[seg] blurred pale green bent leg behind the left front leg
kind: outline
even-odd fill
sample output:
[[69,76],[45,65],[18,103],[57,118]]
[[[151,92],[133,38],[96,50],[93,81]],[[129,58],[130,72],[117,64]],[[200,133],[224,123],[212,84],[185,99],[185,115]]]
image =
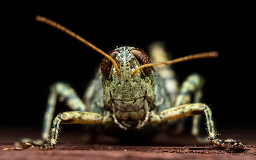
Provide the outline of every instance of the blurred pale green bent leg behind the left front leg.
[[[63,82],[56,82],[50,86],[49,90],[50,95],[48,97],[46,112],[44,116],[42,136],[40,140],[35,140],[36,143],[44,143],[45,139],[49,135],[58,97],[60,97],[59,100],[61,102],[65,101],[71,110],[81,112],[86,111],[86,105],[78,97],[76,91],[73,88],[71,88],[68,84]],[[15,145],[24,144],[28,141],[31,140],[23,138],[16,142]]]

